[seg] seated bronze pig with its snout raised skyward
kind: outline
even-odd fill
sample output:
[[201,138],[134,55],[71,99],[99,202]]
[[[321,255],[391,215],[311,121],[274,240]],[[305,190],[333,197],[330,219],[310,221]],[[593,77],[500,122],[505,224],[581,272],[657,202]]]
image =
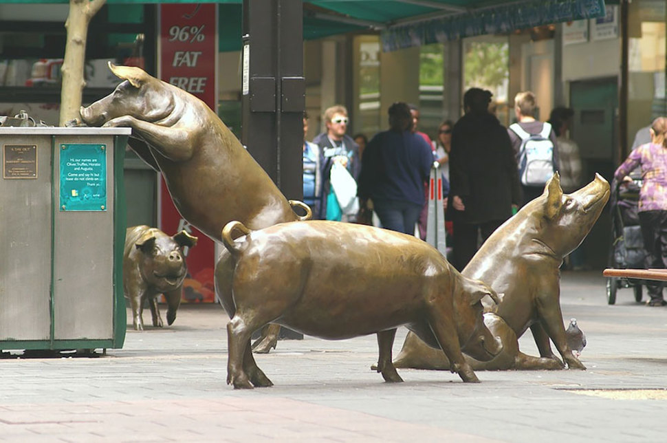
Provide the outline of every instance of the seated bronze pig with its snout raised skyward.
[[[485,362],[468,358],[473,369],[562,369],[549,338],[571,369],[586,369],[567,344],[560,310],[560,265],[589,233],[609,199],[609,183],[595,174],[584,188],[563,194],[558,173],[542,196],[498,228],[462,274],[504,293],[486,306],[484,323],[503,341],[503,352]],[[540,357],[519,351],[517,338],[530,328]],[[474,357],[474,356],[472,356]],[[395,367],[447,369],[446,356],[408,332]]]

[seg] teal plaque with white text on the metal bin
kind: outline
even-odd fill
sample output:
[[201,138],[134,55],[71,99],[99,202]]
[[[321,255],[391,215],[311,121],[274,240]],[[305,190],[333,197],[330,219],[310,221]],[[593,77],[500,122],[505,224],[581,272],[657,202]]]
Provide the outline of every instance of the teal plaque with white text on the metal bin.
[[105,144],[61,144],[61,210],[107,210]]

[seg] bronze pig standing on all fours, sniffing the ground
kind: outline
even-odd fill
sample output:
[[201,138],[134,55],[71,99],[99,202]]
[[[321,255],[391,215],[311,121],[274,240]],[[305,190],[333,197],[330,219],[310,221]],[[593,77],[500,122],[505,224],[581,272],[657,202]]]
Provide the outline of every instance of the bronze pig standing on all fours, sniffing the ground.
[[[235,230],[245,237],[234,241]],[[413,236],[311,221],[256,231],[230,222],[222,237],[236,263],[233,296],[222,300],[231,318],[227,382],[236,389],[272,385],[250,350],[252,332],[269,322],[331,340],[378,334],[378,372],[388,382],[402,381],[391,363],[402,325],[443,349],[464,382],[479,380],[461,351],[479,360],[501,351],[482,321],[481,299],[498,301],[496,293]]]

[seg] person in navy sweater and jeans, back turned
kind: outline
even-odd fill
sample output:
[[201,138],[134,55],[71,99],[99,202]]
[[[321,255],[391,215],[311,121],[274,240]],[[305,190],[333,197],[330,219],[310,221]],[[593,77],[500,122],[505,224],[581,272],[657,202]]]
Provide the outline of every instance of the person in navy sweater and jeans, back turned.
[[361,205],[370,199],[383,228],[410,235],[424,207],[424,182],[433,165],[430,145],[412,127],[408,105],[391,105],[390,129],[369,142],[359,177]]

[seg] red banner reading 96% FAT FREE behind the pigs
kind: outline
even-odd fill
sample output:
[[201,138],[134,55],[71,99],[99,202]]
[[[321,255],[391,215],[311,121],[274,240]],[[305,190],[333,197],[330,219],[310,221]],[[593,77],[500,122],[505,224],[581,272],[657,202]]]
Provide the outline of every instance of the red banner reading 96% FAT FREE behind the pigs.
[[[160,6],[160,78],[197,98],[217,111],[217,5],[173,4]],[[160,229],[173,235],[188,227],[160,180]],[[188,251],[188,277],[183,285],[183,301],[215,300],[213,267],[215,246],[195,228],[197,246]]]

